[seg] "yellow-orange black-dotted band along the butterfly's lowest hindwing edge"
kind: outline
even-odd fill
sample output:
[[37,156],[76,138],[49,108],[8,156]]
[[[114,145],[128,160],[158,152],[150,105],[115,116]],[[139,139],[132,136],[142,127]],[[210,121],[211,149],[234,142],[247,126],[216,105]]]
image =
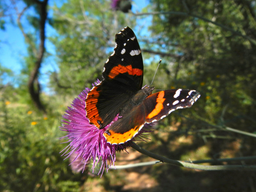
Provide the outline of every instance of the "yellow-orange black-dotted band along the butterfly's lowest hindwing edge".
[[103,133],[104,137],[107,139],[108,143],[111,144],[120,144],[120,143],[125,143],[128,140],[131,140],[133,136],[135,136],[138,132],[140,131],[139,126],[134,127],[128,132],[125,133],[116,133],[113,132],[112,130],[108,130],[110,135],[108,133]]

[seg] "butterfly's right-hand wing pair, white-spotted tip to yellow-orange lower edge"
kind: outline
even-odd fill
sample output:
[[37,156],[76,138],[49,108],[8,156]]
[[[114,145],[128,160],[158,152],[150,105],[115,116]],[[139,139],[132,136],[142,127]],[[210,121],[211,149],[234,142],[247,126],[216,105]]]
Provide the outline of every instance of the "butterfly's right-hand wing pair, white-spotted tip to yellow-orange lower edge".
[[186,89],[150,94],[140,105],[111,124],[104,137],[111,144],[124,143],[138,134],[144,124],[158,121],[176,109],[191,107],[199,97],[199,92]]

